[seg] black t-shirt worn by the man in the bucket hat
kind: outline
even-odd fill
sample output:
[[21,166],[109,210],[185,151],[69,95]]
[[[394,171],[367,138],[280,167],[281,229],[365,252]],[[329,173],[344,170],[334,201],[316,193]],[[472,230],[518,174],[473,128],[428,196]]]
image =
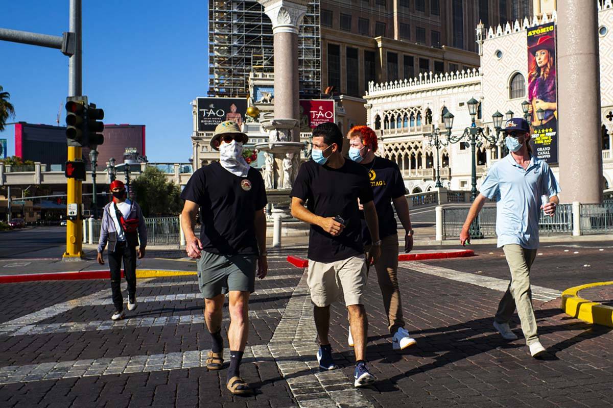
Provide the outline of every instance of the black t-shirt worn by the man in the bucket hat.
[[214,254],[257,254],[254,218],[267,204],[262,175],[250,168],[235,176],[218,161],[192,174],[181,198],[200,206],[204,250]]

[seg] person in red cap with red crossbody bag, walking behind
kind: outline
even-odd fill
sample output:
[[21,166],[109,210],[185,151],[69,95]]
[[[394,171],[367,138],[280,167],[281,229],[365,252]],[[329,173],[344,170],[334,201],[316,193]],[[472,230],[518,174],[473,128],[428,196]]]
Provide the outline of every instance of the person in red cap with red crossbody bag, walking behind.
[[[145,256],[147,247],[147,227],[139,204],[126,199],[126,187],[120,180],[110,185],[113,199],[102,210],[100,240],[98,242],[99,264],[104,265],[102,251],[109,243],[109,267],[111,272],[111,291],[115,311],[112,320],[124,318],[123,297],[121,296],[121,260],[128,283],[128,310],[136,308],[136,257]],[[139,250],[136,247],[139,246]]]

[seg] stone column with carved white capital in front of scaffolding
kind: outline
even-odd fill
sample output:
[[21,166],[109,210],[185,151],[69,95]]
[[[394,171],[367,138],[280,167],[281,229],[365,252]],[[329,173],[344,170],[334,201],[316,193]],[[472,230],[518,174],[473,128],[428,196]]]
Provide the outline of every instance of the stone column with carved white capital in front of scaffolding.
[[[300,120],[298,30],[307,13],[307,0],[258,0],[272,21],[275,53],[275,119]],[[292,141],[300,141],[299,127]]]

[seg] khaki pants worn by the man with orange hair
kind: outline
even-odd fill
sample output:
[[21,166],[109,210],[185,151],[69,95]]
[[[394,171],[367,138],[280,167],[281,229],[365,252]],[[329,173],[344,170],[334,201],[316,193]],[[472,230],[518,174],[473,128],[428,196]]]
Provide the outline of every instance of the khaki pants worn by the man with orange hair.
[[[370,251],[371,245],[365,250]],[[368,262],[367,262],[368,263]],[[370,265],[367,265],[370,268]],[[394,334],[398,327],[405,327],[402,319],[402,301],[398,287],[398,234],[390,235],[381,240],[381,257],[375,264],[379,289],[383,296],[383,306],[387,313],[387,328]]]

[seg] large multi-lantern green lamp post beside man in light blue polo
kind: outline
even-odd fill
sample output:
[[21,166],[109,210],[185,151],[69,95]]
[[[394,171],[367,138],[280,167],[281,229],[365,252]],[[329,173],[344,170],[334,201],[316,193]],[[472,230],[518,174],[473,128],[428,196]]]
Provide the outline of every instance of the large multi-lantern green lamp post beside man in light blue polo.
[[[446,114],[444,114],[443,120],[445,122],[445,127],[447,128],[447,132],[449,133],[449,137],[447,138],[448,143],[458,143],[464,138],[467,138],[467,139],[470,138],[471,154],[473,156],[473,159],[471,162],[472,188],[470,190],[470,196],[471,196],[471,201],[474,201],[474,199],[477,198],[476,146],[478,144],[479,146],[481,146],[481,141],[479,141],[479,139],[481,138],[487,140],[491,144],[496,144],[498,137],[486,135],[484,133],[484,129],[476,125],[475,117],[477,116],[477,108],[478,108],[479,102],[475,98],[471,98],[467,104],[468,104],[468,113],[470,114],[470,119],[471,119],[471,125],[470,127],[466,127],[464,129],[464,132],[462,133],[462,135],[460,136],[451,135],[451,128],[453,127],[453,123],[454,123],[454,116],[453,114],[451,114],[451,112],[447,112]],[[492,116],[493,121],[500,121],[502,114],[498,112],[497,114],[500,115],[500,118]],[[509,116],[509,114],[511,115],[511,117],[513,116],[513,113],[511,111],[508,111],[506,114],[507,116]],[[479,217],[474,218],[474,221],[470,226],[470,236],[473,237],[474,239],[483,238],[483,234],[481,234],[481,230],[479,229]]]

